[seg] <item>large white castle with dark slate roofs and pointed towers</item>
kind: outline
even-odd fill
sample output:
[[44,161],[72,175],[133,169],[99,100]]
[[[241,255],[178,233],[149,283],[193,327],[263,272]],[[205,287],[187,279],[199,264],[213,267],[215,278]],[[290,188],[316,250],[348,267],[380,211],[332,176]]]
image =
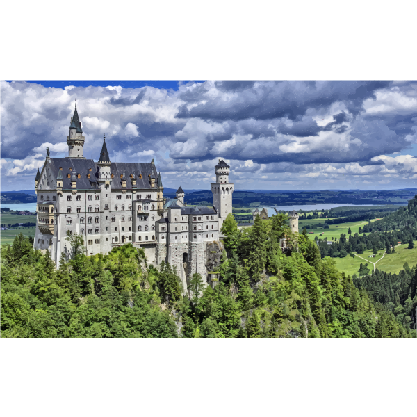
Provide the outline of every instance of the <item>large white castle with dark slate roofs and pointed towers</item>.
[[58,263],[61,252],[71,252],[67,235],[81,234],[88,255],[107,254],[113,247],[132,243],[145,250],[149,263],[177,265],[183,284],[194,272],[206,277],[207,245],[219,240],[222,223],[232,212],[229,165],[223,160],[215,165],[213,208],[188,207],[181,187],[177,198],[163,197],[154,160],[111,162],[104,137],[95,162],[83,156],[84,141],[75,106],[67,136],[69,156],[51,158],[47,149],[44,166],[36,174],[34,248],[48,250]]

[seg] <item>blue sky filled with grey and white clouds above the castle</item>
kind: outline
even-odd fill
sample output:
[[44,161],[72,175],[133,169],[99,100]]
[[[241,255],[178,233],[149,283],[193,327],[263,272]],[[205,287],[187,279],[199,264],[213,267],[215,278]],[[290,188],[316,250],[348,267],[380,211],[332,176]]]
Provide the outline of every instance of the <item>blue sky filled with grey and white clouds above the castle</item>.
[[417,185],[417,81],[0,81],[0,190],[68,156],[75,100],[95,161],[154,158],[163,185],[209,189],[224,158],[245,190]]

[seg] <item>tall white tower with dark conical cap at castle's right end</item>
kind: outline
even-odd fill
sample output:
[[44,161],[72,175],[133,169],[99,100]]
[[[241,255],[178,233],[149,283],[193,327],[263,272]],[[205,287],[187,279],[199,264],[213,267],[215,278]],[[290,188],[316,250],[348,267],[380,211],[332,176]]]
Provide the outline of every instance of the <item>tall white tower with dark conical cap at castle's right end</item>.
[[213,206],[218,212],[219,229],[221,229],[227,215],[232,212],[231,195],[234,190],[234,183],[229,183],[230,167],[222,159],[214,167],[216,182],[211,183],[213,193]]

